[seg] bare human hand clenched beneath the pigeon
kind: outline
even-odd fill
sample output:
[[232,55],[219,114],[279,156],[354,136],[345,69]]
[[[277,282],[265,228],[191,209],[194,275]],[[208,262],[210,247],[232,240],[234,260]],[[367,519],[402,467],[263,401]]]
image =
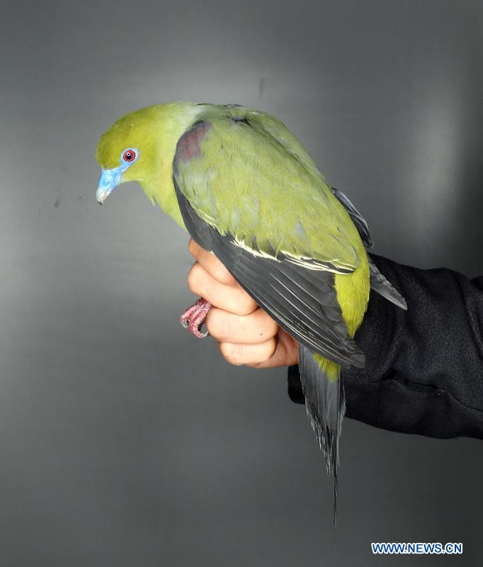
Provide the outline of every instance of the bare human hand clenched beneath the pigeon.
[[225,360],[253,368],[297,364],[297,341],[256,305],[215,254],[193,239],[188,249],[196,260],[188,288],[211,303],[205,325]]

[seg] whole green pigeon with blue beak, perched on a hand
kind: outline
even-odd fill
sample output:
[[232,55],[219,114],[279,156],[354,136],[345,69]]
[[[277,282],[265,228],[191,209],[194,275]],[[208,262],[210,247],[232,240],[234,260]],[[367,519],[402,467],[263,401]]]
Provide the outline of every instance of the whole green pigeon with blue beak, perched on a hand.
[[[353,337],[370,288],[406,309],[365,251],[373,240],[300,141],[267,113],[239,105],[163,103],[103,134],[96,198],[138,181],[153,203],[226,266],[299,343],[307,415],[334,475],[345,411],[341,369],[365,364]],[[196,336],[210,304],[182,317]]]

